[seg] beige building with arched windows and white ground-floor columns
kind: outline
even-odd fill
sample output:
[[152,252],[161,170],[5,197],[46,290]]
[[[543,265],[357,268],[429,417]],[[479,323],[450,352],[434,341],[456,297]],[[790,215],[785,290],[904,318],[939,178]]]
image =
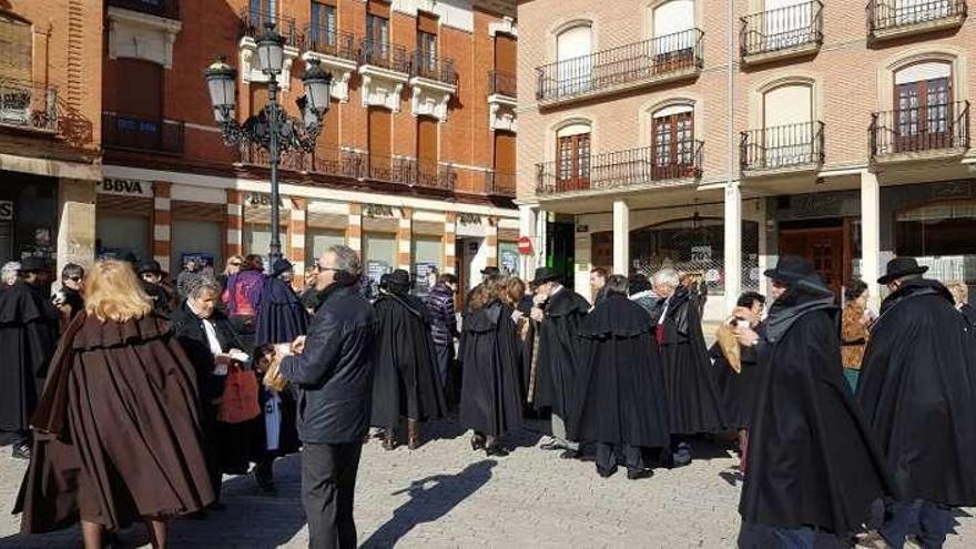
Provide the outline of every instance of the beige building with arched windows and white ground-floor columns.
[[518,18],[526,271],[583,293],[596,266],[701,273],[725,297],[712,317],[786,253],[837,291],[895,255],[976,283],[966,1],[531,0]]

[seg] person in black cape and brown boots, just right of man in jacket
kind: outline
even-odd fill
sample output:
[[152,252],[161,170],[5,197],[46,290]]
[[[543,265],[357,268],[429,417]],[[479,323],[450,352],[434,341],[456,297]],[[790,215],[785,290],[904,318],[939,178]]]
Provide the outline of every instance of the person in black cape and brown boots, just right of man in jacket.
[[396,270],[384,277],[373,304],[378,323],[373,380],[372,425],[383,429],[383,446],[396,445],[396,427],[407,417],[407,445],[420,446],[420,421],[444,417],[447,405],[437,375],[430,316],[424,302],[409,295],[410,274]]

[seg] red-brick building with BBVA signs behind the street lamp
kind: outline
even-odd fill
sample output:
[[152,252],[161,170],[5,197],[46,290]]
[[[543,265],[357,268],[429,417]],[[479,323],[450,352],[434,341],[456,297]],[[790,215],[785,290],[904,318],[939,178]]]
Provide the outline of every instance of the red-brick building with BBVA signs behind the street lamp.
[[514,1],[106,0],[98,253],[186,255],[223,267],[266,254],[267,157],[227,148],[203,70],[238,72],[237,118],[267,101],[255,37],[286,39],[282,104],[297,114],[305,60],[333,75],[312,153],[282,161],[283,251],[297,272],[334,243],[367,271],[480,277],[518,268]]

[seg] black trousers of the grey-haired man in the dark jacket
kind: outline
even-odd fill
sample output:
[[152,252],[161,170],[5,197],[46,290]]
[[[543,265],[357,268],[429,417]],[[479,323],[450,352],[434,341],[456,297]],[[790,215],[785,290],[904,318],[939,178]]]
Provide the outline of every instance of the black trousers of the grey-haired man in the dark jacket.
[[305,444],[302,502],[308,520],[309,549],[355,549],[353,495],[362,451],[362,441]]

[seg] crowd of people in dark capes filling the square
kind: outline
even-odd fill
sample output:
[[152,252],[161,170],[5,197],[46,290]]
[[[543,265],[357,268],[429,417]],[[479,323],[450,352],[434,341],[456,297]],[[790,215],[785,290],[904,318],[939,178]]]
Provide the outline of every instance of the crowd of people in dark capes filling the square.
[[941,547],[976,505],[976,314],[925,271],[889,262],[875,314],[865,283],[836,296],[783,256],[710,347],[704,284],[671,268],[593,270],[588,299],[547,267],[487,267],[462,301],[454,275],[418,297],[397,270],[367,298],[334,246],[302,292],[291,263],[251,255],[216,277],[187,262],[172,285],[155,262],[68,265],[51,298],[43,262],[8,264],[0,428],[30,459],[22,529],[80,520],[100,547],[141,519],[163,547],[170,518],[223,509],[224,474],[274,492],[301,448],[309,546],[355,547],[363,445],[413,450],[456,417],[497,458],[548,419],[538,448],[630,480],[731,433],[740,547]]

